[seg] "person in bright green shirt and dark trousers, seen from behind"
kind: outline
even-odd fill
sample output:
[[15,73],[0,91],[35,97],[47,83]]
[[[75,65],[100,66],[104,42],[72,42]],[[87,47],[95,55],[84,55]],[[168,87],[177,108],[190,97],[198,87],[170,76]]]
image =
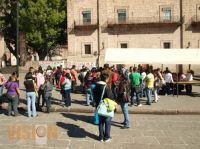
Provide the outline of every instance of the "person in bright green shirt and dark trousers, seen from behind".
[[133,97],[134,94],[136,94],[137,106],[141,107],[142,104],[140,104],[140,98],[139,98],[139,94],[141,92],[141,87],[140,87],[141,75],[139,72],[137,72],[137,67],[133,68],[133,72],[129,75],[129,79],[131,84],[131,105],[134,104]]

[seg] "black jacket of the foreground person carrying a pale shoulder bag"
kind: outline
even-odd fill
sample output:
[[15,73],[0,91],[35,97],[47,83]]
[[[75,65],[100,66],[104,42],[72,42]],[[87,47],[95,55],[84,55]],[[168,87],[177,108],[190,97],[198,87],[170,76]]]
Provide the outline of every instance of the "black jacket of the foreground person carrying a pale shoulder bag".
[[[97,82],[96,87],[94,88],[94,100],[96,102],[96,108],[98,107],[99,102],[101,100],[101,95],[102,95],[105,85],[106,85],[106,82],[99,81],[99,82]],[[110,87],[108,85],[106,85],[106,88],[104,91],[103,99],[104,98],[113,99],[112,90],[110,89]]]

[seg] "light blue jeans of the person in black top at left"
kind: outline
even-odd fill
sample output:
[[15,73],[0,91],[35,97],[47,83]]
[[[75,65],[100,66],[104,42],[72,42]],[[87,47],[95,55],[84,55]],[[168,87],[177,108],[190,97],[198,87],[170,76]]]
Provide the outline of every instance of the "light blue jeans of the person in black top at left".
[[[28,117],[36,117],[36,108],[35,108],[35,99],[36,95],[35,92],[27,92],[26,93],[26,99],[27,99],[27,106],[28,106]],[[31,111],[32,108],[32,111]]]

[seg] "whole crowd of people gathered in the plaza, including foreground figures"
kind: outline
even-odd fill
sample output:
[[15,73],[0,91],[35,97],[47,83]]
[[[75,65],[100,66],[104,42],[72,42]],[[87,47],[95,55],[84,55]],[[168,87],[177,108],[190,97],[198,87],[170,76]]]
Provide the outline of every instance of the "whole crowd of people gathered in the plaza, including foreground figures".
[[[71,93],[77,93],[77,82],[80,81],[80,90],[85,96],[85,105],[94,106],[96,109],[100,104],[101,96],[103,99],[109,98],[117,102],[124,114],[122,128],[128,129],[129,112],[128,107],[141,107],[141,99],[146,98],[146,105],[158,102],[160,94],[172,94],[174,81],[192,81],[193,71],[188,70],[186,74],[180,72],[174,75],[168,68],[161,71],[160,68],[153,69],[153,66],[142,67],[131,66],[129,69],[121,65],[119,69],[115,66],[104,64],[104,67],[92,68],[89,70],[85,66],[78,72],[76,66],[63,68],[62,66],[46,70],[39,67],[37,70],[29,68],[29,72],[24,77],[24,87],[26,90],[27,116],[36,117],[37,109],[41,109],[46,104],[46,112],[51,111],[51,99],[53,86],[60,89],[62,102],[65,107],[71,106]],[[0,73],[0,97],[3,95],[3,87],[7,89],[8,116],[13,114],[18,116],[18,103],[20,97],[19,81],[16,73],[6,80]],[[181,92],[186,89],[187,94],[191,94],[192,86],[179,86]],[[42,97],[42,98],[41,98]],[[42,100],[40,100],[42,99]],[[112,117],[98,116],[99,140],[110,141],[110,127]],[[105,128],[104,128],[105,127]],[[105,132],[104,132],[105,129]]]

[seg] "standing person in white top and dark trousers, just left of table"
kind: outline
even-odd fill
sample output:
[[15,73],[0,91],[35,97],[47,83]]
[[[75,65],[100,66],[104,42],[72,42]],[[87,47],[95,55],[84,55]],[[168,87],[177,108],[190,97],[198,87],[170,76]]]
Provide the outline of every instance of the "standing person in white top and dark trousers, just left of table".
[[170,91],[171,84],[174,83],[172,73],[169,70],[165,71],[164,80],[165,80],[164,92],[165,92],[165,96],[167,96],[171,94],[171,91]]

